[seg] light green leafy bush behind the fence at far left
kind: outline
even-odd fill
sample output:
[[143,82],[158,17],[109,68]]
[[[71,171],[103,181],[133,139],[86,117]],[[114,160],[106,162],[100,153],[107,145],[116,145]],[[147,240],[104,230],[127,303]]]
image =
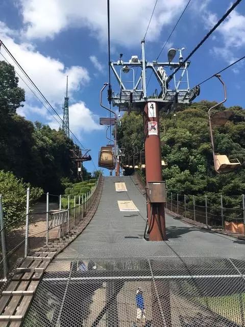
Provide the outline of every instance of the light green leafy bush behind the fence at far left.
[[[0,194],[3,194],[4,221],[7,228],[20,226],[26,220],[27,188],[30,184],[12,173],[0,171]],[[30,204],[42,194],[40,188],[30,187]]]

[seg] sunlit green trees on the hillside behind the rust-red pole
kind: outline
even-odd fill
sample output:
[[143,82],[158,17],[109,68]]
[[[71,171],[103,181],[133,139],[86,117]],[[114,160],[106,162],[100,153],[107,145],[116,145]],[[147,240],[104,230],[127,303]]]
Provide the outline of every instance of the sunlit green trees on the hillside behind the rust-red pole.
[[[230,159],[238,158],[242,165],[234,172],[217,175],[208,130],[208,109],[213,104],[201,101],[177,107],[176,116],[160,112],[162,158],[167,161],[162,176],[169,193],[197,195],[201,202],[201,195],[206,194],[213,204],[220,201],[217,194],[222,194],[225,204],[234,206],[241,199],[230,196],[245,193],[245,111],[238,106],[218,109],[232,110],[234,114],[225,126],[214,128],[215,151]],[[142,130],[141,114],[122,117],[118,144],[125,148],[126,158],[133,148],[143,148]]]

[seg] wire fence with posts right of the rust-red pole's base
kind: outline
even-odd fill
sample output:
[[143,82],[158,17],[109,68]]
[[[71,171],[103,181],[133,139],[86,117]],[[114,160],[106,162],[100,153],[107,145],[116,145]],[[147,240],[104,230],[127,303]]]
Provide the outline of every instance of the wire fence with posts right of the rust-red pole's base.
[[[245,205],[244,195],[236,196],[236,206],[229,205],[229,197],[213,199],[207,196],[194,196],[167,193],[166,207],[177,215],[203,223],[209,227],[225,228],[245,234]],[[226,203],[228,206],[226,207]]]

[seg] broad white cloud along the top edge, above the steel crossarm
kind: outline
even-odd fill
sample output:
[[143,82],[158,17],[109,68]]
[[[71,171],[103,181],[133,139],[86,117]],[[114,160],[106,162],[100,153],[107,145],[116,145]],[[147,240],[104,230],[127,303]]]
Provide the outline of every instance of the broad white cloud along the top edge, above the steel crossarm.
[[[101,43],[107,41],[107,6],[102,0],[19,0],[28,38],[53,38],[71,27],[88,28]],[[143,38],[155,0],[113,0],[110,4],[111,41],[135,45]],[[161,35],[162,27],[173,24],[185,0],[158,2],[146,39]]]

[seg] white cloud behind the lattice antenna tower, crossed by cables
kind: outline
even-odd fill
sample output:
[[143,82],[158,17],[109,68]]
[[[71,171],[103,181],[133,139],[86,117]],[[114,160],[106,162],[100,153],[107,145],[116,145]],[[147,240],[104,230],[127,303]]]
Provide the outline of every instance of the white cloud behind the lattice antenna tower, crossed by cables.
[[[81,86],[86,85],[90,80],[87,69],[82,66],[65,67],[58,59],[44,56],[36,51],[30,43],[16,43],[11,37],[15,32],[8,29],[3,22],[0,22],[0,27],[2,27],[2,30],[0,30],[0,39],[3,40],[10,52],[14,54],[17,61],[39,87],[47,100],[53,106],[57,105],[58,109],[56,108],[56,110],[59,112],[61,118],[63,118],[61,103],[65,95],[66,75],[69,76],[69,98],[72,100],[76,98],[76,91]],[[15,66],[16,71],[20,73],[19,68],[13,63],[3,48],[1,52]],[[0,56],[0,60],[2,59]],[[20,76],[24,79],[22,73],[20,73]],[[24,80],[27,82],[26,79]],[[27,83],[29,84],[29,82]],[[24,102],[24,107],[19,108],[17,112],[28,119],[31,119],[33,116],[39,116],[43,123],[50,125],[52,128],[59,128],[60,123],[57,123],[52,114],[38,102],[21,79],[19,79],[19,86],[23,87],[26,91],[26,102]],[[52,112],[52,109],[50,111]],[[70,128],[78,135],[81,135],[83,131],[90,132],[101,128],[95,122],[97,120],[96,116],[86,107],[84,102],[71,104],[69,107],[69,117]]]

